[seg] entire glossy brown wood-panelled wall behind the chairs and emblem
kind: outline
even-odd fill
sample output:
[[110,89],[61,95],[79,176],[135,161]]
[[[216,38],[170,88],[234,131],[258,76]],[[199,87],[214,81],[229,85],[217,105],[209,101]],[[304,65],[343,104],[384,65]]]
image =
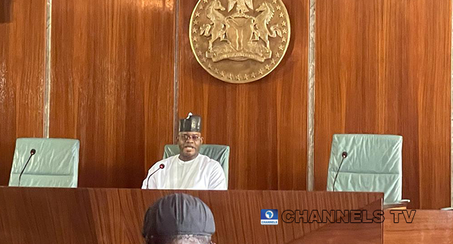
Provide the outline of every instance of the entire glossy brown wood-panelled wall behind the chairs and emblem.
[[[284,0],[289,50],[250,84],[195,61],[196,3],[52,1],[49,136],[80,139],[80,186],[139,188],[173,142],[174,116],[192,112],[206,143],[231,146],[231,189],[307,188],[309,0]],[[404,197],[450,205],[450,3],[316,0],[315,190],[334,133],[398,134]],[[43,135],[45,4],[0,4],[0,185],[16,137]]]

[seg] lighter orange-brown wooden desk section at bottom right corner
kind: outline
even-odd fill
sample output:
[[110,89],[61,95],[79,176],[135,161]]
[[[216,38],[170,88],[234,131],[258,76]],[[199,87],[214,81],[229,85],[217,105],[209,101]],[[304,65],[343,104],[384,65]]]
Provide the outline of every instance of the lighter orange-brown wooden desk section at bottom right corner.
[[453,211],[417,210],[412,223],[394,223],[388,210],[384,217],[384,244],[453,243]]

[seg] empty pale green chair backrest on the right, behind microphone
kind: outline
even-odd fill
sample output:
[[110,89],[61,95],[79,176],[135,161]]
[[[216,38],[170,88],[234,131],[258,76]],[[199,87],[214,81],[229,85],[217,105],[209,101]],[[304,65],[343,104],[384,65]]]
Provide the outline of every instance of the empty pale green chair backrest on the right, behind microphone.
[[401,200],[402,146],[399,135],[333,135],[327,190],[333,190],[341,154],[348,153],[335,191],[384,192],[384,203]]

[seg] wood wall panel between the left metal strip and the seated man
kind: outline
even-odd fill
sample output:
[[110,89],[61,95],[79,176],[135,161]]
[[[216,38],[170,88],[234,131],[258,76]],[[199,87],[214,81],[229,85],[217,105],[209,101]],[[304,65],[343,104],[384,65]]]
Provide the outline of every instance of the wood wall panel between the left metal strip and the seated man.
[[80,139],[80,186],[139,188],[172,142],[174,17],[173,1],[53,1],[50,136]]

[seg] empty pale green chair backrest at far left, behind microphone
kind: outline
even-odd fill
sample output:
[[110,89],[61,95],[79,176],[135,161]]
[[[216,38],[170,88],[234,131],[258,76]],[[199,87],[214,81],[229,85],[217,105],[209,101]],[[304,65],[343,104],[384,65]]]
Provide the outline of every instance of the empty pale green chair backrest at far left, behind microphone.
[[20,186],[77,188],[79,147],[77,139],[18,138],[8,185],[18,185],[20,172],[34,148],[36,154],[22,174]]

